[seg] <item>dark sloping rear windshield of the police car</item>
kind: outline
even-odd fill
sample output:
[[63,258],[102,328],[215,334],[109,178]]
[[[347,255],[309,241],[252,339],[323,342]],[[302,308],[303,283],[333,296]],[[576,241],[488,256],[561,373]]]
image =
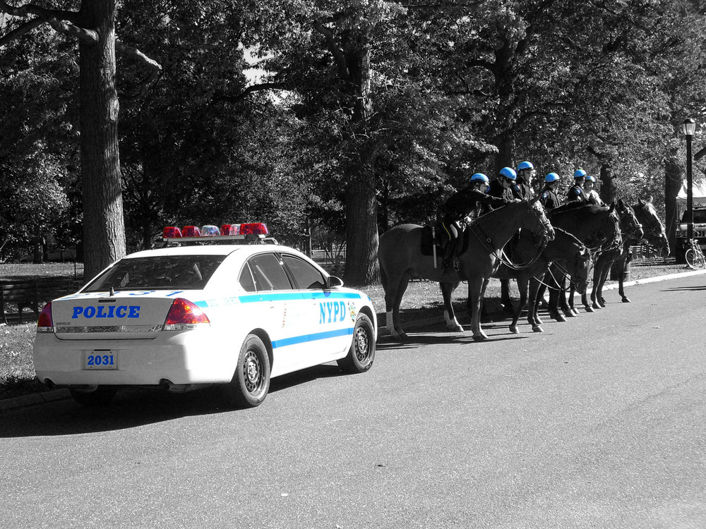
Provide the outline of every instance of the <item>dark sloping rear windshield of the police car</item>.
[[97,277],[84,292],[114,290],[201,290],[225,255],[169,255],[124,259]]

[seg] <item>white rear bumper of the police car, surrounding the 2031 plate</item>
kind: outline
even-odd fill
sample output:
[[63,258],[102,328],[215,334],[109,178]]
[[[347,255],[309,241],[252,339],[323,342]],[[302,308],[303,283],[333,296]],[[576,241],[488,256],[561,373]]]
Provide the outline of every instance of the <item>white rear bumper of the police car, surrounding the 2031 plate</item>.
[[[38,333],[34,363],[41,382],[56,385],[219,384],[230,382],[238,350],[211,329],[162,332],[150,340],[60,340]],[[115,369],[87,369],[96,350],[114,354]]]

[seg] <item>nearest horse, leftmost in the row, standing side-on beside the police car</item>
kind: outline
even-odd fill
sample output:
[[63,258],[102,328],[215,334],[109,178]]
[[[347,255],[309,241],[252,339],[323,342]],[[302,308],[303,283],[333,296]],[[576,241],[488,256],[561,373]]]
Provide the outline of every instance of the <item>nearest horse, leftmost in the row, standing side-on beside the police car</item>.
[[[510,202],[493,209],[473,221],[462,233],[457,244],[459,270],[458,281],[466,280],[476,309],[471,319],[474,340],[485,340],[488,336],[481,329],[481,299],[491,274],[500,264],[499,252],[517,230],[528,229],[554,238],[554,229],[544,214],[544,208],[534,200]],[[431,255],[421,251],[422,226],[402,224],[385,231],[380,236],[378,260],[385,290],[385,327],[393,339],[405,339],[407,334],[400,327],[400,303],[407,290],[409,279],[441,280],[441,255],[436,262]],[[443,283],[444,316],[446,328],[463,331],[458,324],[451,305],[451,293],[458,281]]]

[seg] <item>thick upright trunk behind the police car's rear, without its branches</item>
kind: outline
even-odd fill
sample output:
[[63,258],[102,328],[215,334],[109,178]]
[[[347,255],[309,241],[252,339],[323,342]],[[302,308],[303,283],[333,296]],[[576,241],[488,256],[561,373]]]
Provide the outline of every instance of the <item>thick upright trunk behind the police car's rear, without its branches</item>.
[[115,87],[115,0],[83,1],[85,28],[97,44],[80,40],[80,153],[83,190],[84,277],[125,255]]

